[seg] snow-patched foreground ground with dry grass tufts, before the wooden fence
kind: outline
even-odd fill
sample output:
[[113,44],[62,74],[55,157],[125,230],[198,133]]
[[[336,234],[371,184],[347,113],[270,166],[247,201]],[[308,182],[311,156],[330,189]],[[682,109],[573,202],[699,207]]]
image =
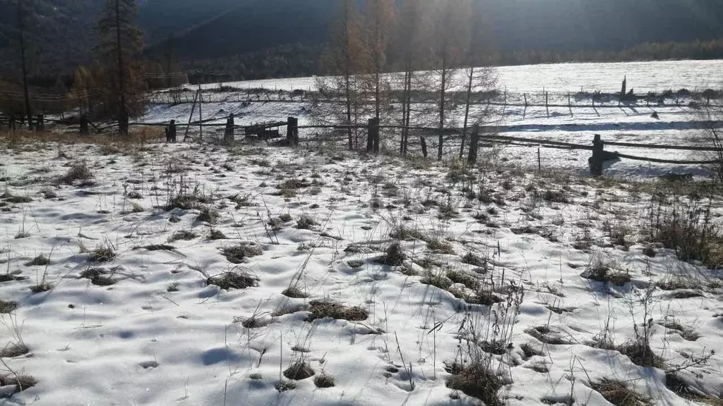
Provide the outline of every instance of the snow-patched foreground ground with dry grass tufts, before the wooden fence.
[[[455,360],[497,371],[513,406],[720,405],[722,275],[650,241],[649,185],[334,150],[2,148],[3,405],[479,404],[448,387]],[[654,366],[621,353],[641,334]],[[314,375],[282,376],[299,362]],[[13,394],[15,373],[35,386]]]

